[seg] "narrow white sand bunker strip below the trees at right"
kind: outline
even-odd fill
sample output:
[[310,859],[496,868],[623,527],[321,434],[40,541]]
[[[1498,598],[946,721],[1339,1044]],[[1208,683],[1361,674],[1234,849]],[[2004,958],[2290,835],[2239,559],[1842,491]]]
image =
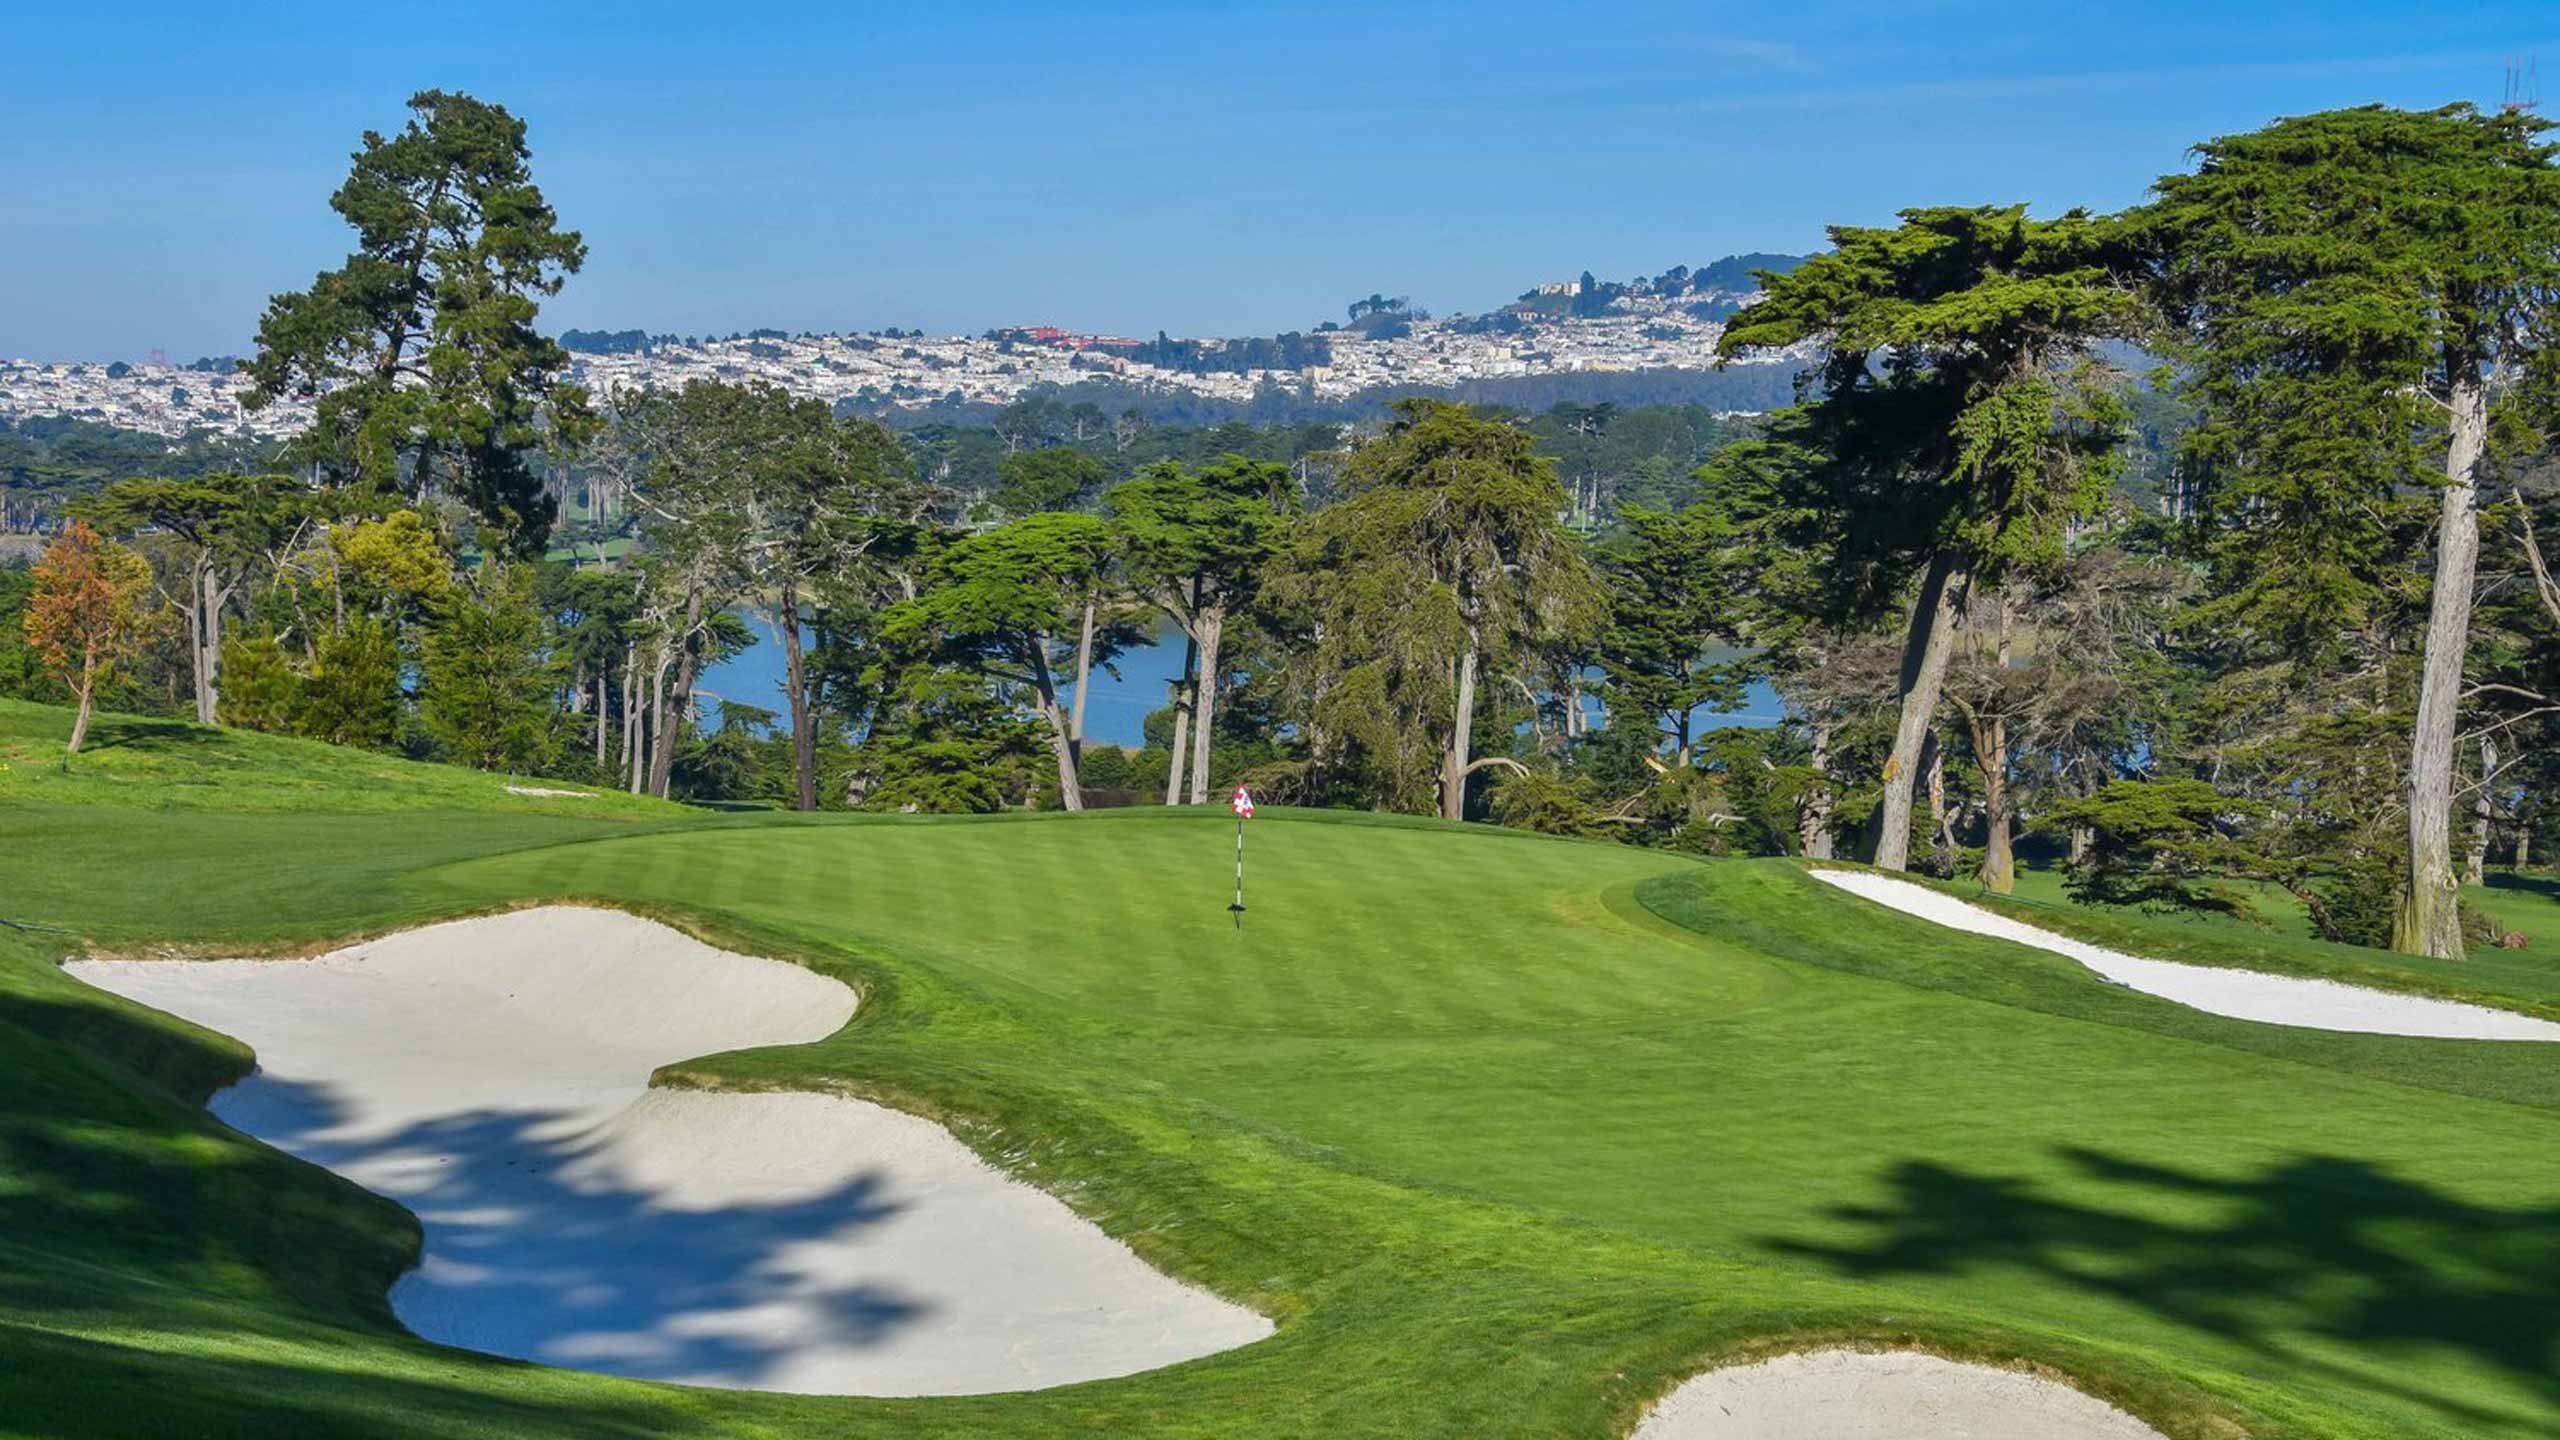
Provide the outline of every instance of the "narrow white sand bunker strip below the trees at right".
[[1935,920],[1953,930],[2015,940],[2038,951],[2068,956],[2115,984],[2158,994],[2179,1004],[2232,1020],[2260,1020],[2266,1025],[2299,1025],[2304,1030],[2355,1030],[2365,1035],[2424,1035],[2435,1040],[2560,1040],[2560,1025],[2491,1010],[2486,1004],[2460,1004],[2452,999],[2424,999],[2365,989],[2327,979],[2271,976],[2260,971],[2225,971],[2214,966],[2179,966],[2171,961],[2145,961],[2122,951],[2107,951],[2038,930],[2007,915],[1994,915],[1979,904],[1966,904],[1953,894],[1925,884],[1892,879],[1876,871],[1812,871],[1812,879],[1836,884],[1851,894],[1864,894],[1876,904],[1889,904],[1905,915]]

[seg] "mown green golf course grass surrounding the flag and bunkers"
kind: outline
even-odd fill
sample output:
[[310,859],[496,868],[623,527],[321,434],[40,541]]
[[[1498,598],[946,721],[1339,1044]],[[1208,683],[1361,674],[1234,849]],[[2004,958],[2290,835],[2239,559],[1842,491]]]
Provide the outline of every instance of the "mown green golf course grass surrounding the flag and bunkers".
[[932,1402],[438,1350],[381,1307],[397,1209],[192,1107],[236,1045],[0,933],[0,1432],[1603,1437],[1708,1358],[1830,1338],[2030,1358],[2181,1440],[2560,1430],[2550,1048],[2217,1020],[1779,861],[1267,810],[1239,933],[1224,815],[612,820],[471,784],[0,799],[0,843],[13,897],[128,948],[586,897],[842,974],[840,1035],[663,1081],[945,1117],[1280,1332]]

